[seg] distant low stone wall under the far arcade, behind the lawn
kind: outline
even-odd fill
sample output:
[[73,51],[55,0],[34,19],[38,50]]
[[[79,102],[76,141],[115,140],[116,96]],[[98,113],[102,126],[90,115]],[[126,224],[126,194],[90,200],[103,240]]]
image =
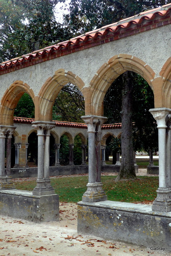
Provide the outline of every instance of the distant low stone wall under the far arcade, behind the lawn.
[[[72,175],[88,173],[88,165],[77,165],[77,166],[51,166],[50,176],[59,175]],[[113,164],[106,164],[102,166],[103,172],[119,172],[120,166]],[[135,173],[138,173],[138,166],[135,166]],[[29,168],[12,168],[11,169],[12,178],[27,178],[27,177],[37,177],[37,167]]]

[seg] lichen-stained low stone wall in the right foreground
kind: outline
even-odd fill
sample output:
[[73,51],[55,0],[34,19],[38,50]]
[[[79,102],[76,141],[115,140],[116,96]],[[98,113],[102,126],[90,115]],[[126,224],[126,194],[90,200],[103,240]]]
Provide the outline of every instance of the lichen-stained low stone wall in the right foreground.
[[101,201],[78,202],[79,233],[136,245],[165,247],[171,252],[171,212],[154,212],[143,204]]

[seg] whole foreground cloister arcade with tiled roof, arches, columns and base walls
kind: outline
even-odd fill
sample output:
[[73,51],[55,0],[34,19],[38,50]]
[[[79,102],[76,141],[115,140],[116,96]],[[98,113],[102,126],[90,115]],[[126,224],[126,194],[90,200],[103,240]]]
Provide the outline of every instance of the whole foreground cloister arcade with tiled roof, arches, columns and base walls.
[[[89,139],[89,182],[78,202],[78,232],[170,250],[170,11],[171,4],[163,5],[0,64],[1,214],[36,222],[59,219],[59,199],[49,178],[49,138],[55,127],[53,103],[61,88],[72,83],[85,99],[82,119]],[[141,75],[154,93],[155,108],[149,111],[159,132],[159,188],[152,206],[108,201],[102,188],[101,133],[107,120],[103,116],[103,99],[111,83],[125,71]],[[38,136],[38,176],[32,192],[15,190],[10,173],[13,113],[24,93],[35,104],[32,127]],[[22,139],[25,141],[25,136]]]

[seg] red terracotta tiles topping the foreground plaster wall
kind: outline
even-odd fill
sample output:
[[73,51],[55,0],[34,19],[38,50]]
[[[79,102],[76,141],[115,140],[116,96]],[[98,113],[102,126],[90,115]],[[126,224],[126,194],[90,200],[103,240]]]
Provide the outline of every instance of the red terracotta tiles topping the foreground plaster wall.
[[2,62],[0,64],[0,69],[4,69],[5,67],[9,67],[9,66],[12,66],[12,65],[15,65],[18,63],[22,63],[26,60],[30,60],[30,59],[36,58],[38,56],[43,57],[43,54],[48,54],[48,53],[50,54],[52,51],[54,51],[54,50],[57,51],[57,50],[60,50],[61,48],[66,49],[66,51],[67,51],[67,48],[70,45],[78,45],[80,42],[86,42],[90,38],[96,39],[97,37],[105,36],[110,32],[115,33],[118,31],[118,29],[129,28],[132,24],[141,24],[146,20],[153,20],[153,19],[155,19],[155,17],[157,15],[165,16],[169,13],[170,10],[171,10],[171,3],[163,5],[162,7],[159,7],[156,9],[142,12],[138,15],[129,17],[129,18],[121,20],[119,22],[103,26],[99,29],[95,29],[94,31],[87,32],[84,35],[80,35],[80,36],[71,38],[70,40],[66,40],[64,42],[59,42],[56,45],[48,46],[48,47],[45,47],[38,51],[34,51],[32,53],[25,54],[21,57]]

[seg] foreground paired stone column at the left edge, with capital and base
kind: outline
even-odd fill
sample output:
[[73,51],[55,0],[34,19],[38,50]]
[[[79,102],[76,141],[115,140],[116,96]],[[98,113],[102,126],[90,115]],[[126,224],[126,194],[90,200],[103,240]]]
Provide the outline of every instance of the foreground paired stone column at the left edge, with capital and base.
[[[14,189],[11,181],[11,138],[16,127],[0,125],[0,190]],[[5,176],[5,138],[6,143],[6,172]]]

